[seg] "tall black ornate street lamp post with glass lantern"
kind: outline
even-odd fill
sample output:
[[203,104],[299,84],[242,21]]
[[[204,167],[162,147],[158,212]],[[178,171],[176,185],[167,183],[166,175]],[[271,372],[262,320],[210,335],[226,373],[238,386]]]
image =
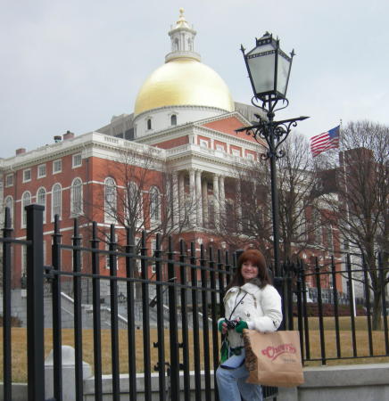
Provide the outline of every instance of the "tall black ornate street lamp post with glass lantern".
[[[284,156],[284,151],[279,148],[286,140],[292,127],[297,126],[297,121],[308,119],[298,117],[275,121],[275,111],[285,109],[288,105],[286,90],[289,82],[290,70],[294,58],[294,51],[287,55],[279,47],[279,39],[274,39],[269,32],[263,37],[256,38],[255,47],[245,53],[244,46],[241,51],[252,84],[252,104],[266,112],[268,119],[262,119],[255,114],[259,123],[250,127],[242,127],[236,132],[245,132],[252,135],[258,142],[265,140],[268,144],[266,153],[261,154],[262,160],[269,160],[271,183],[271,208],[273,218],[273,243],[274,243],[274,273],[277,290],[282,289],[282,272],[279,261],[279,228],[278,228],[278,194],[277,194],[277,165],[276,161]],[[279,105],[279,103],[281,105]],[[278,107],[277,107],[278,106]]]

